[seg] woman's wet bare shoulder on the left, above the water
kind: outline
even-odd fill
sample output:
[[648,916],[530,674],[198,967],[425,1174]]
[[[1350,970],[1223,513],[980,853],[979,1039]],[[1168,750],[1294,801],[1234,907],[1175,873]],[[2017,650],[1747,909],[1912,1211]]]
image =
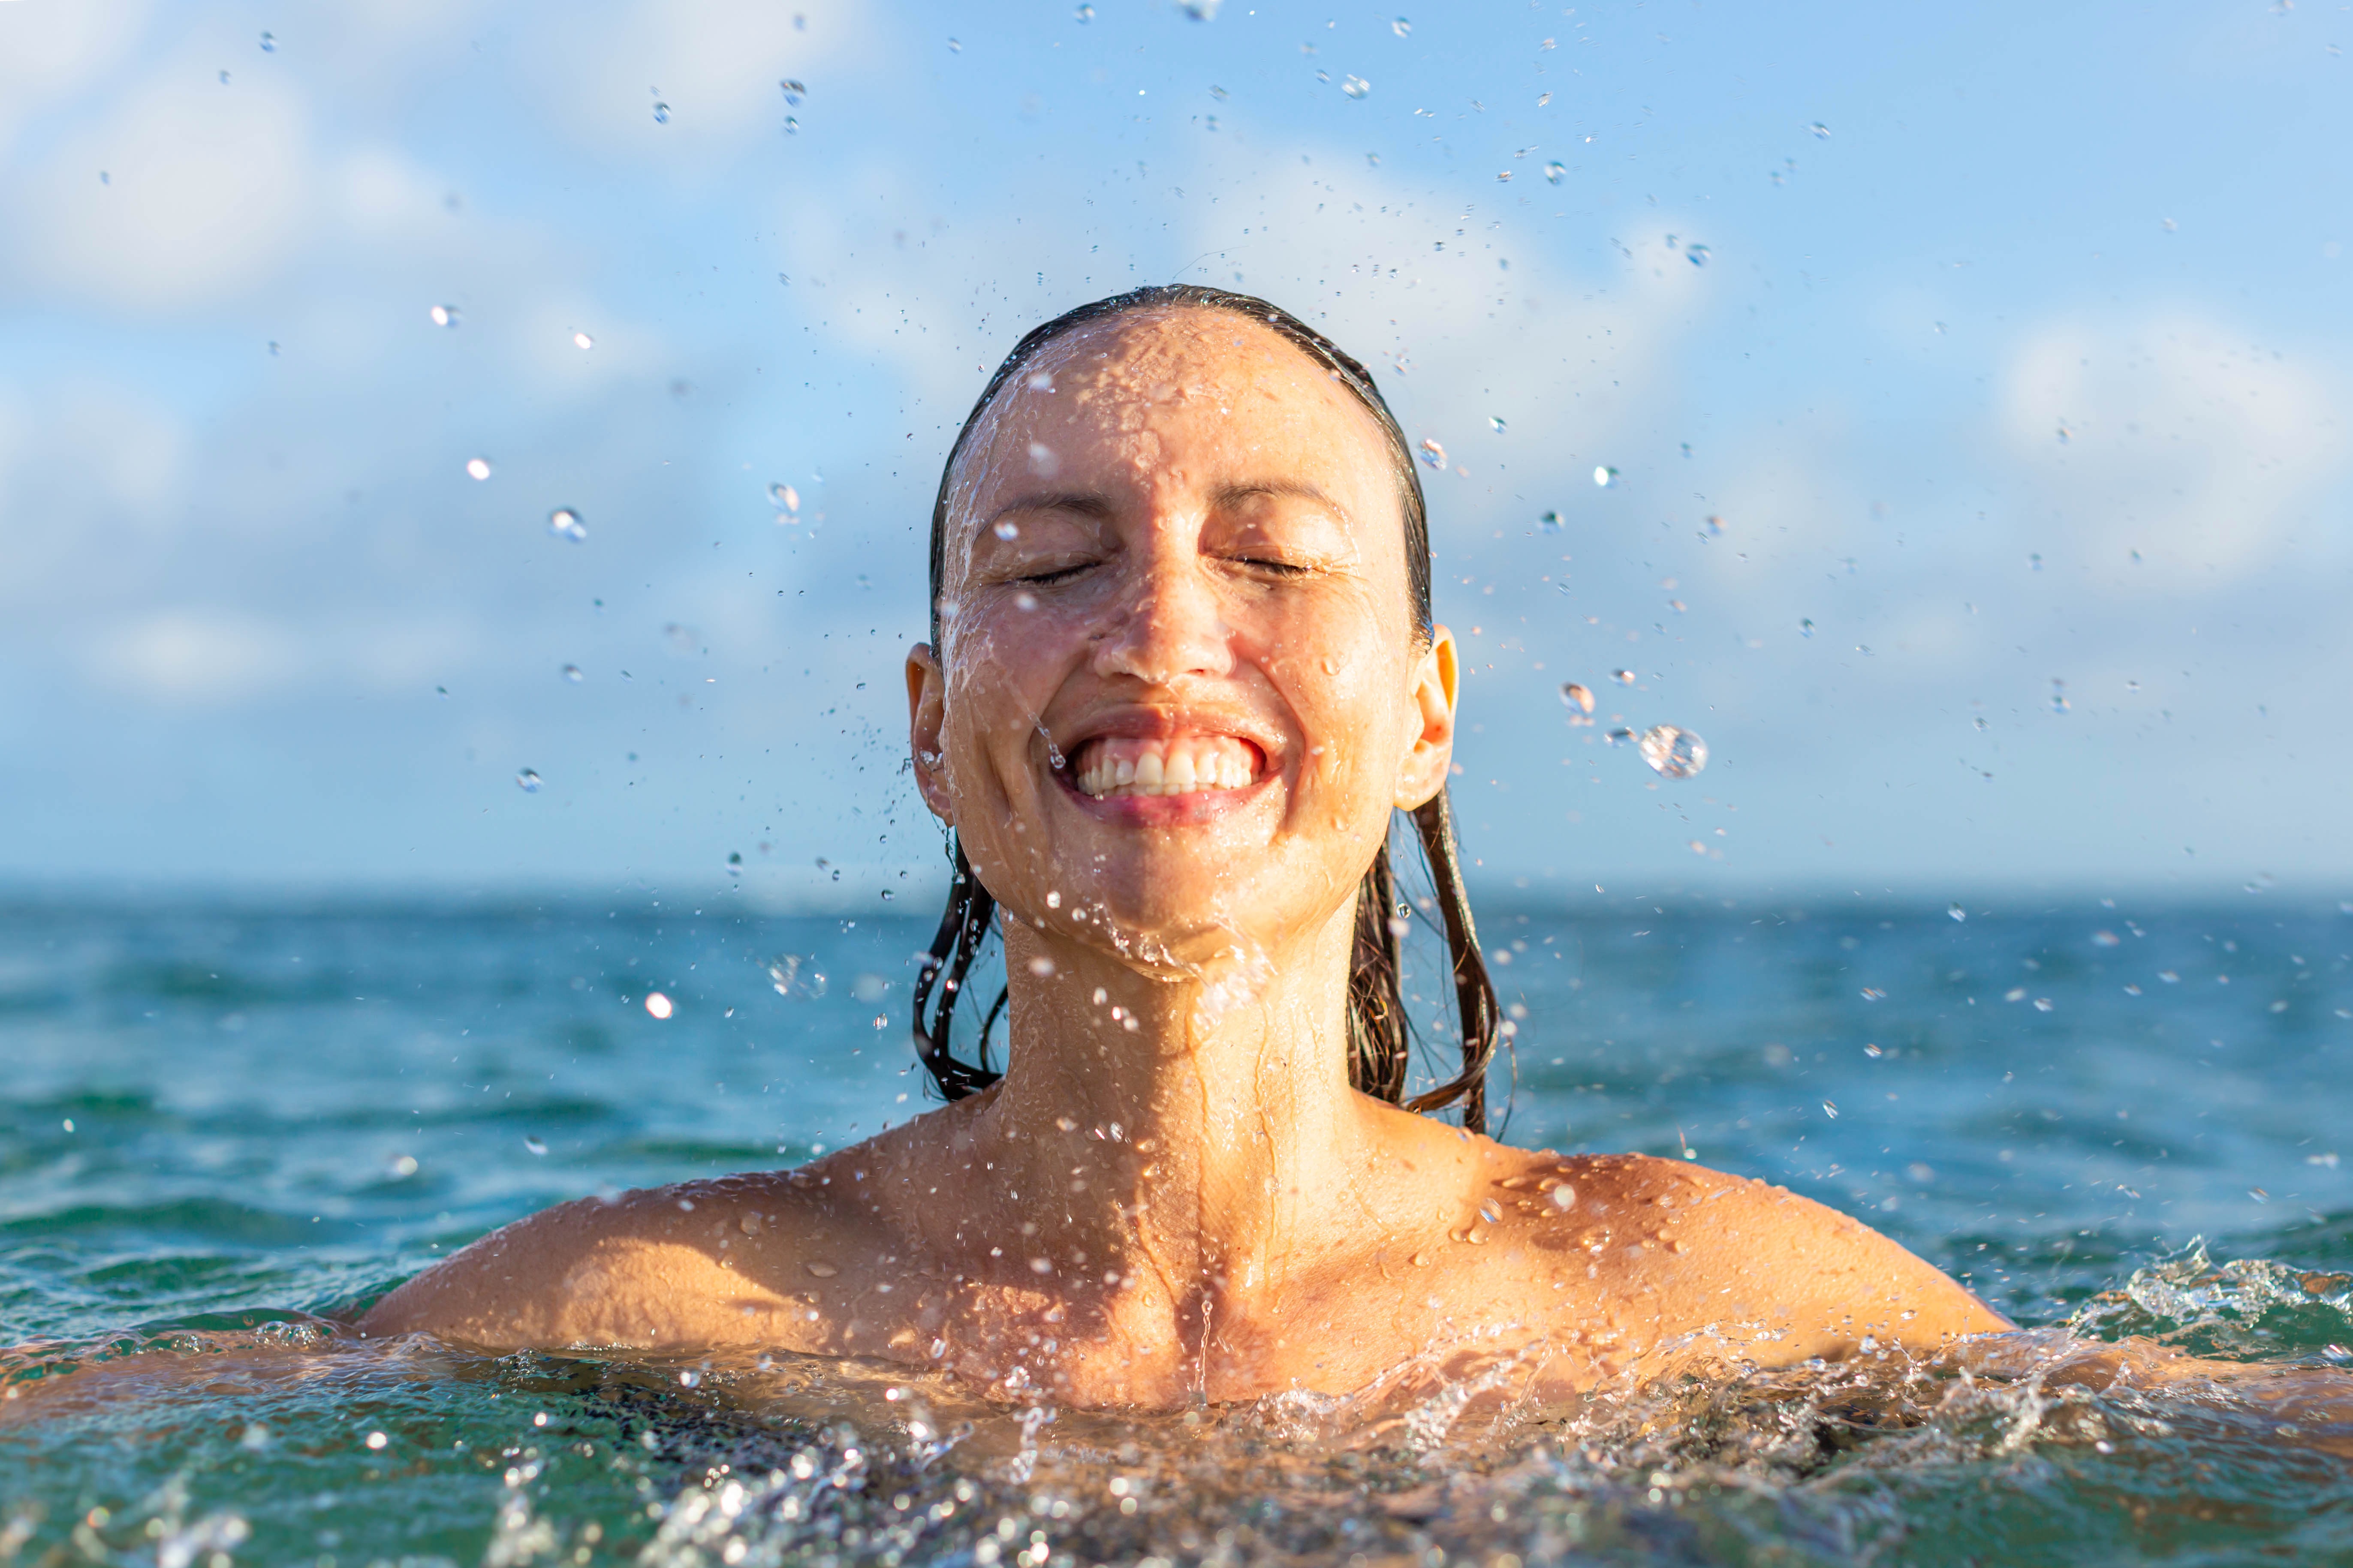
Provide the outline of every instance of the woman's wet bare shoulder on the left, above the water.
[[824,1171],[758,1171],[544,1208],[376,1302],[360,1333],[494,1349],[765,1342],[809,1321],[802,1258],[859,1239]]

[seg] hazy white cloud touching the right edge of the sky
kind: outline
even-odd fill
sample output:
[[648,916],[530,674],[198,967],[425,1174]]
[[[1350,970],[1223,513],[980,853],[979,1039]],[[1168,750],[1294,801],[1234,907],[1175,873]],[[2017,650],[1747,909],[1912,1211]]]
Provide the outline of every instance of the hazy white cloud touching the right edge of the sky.
[[2254,574],[2344,468],[2327,378],[2193,315],[2033,331],[2000,421],[2031,522],[2097,564],[2139,550],[2151,585]]

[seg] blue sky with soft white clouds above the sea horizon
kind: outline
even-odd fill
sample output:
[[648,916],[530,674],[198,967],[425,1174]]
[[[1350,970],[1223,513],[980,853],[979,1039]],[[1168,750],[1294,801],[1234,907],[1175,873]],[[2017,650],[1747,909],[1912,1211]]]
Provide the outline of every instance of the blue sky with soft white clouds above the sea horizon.
[[1489,886],[2353,896],[2346,47],[2344,5],[0,0],[0,879],[741,853],[922,905],[955,421],[1026,327],[1191,277],[1447,454]]

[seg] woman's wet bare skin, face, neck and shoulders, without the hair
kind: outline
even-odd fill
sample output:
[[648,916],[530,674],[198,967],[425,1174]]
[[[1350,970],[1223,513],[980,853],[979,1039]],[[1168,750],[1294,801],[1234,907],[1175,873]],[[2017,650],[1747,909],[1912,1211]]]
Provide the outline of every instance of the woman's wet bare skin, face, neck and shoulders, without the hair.
[[[760,1345],[1174,1408],[1534,1349],[1544,1389],[2007,1328],[1692,1164],[1355,1093],[1355,889],[1454,741],[1377,423],[1231,313],[1054,343],[951,496],[915,778],[1005,912],[1009,1072],[791,1173],[511,1225],[376,1305],[482,1347]],[[1198,783],[1188,783],[1198,780]]]

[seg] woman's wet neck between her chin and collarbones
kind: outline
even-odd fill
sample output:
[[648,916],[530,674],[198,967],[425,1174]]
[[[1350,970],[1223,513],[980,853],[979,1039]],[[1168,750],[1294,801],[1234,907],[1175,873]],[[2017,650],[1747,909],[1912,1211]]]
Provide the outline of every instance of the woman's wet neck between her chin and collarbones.
[[1038,1227],[1024,1246],[1179,1309],[1313,1253],[1365,1157],[1351,938],[1344,910],[1294,950],[1167,978],[1007,922],[1012,1060],[974,1138]]

